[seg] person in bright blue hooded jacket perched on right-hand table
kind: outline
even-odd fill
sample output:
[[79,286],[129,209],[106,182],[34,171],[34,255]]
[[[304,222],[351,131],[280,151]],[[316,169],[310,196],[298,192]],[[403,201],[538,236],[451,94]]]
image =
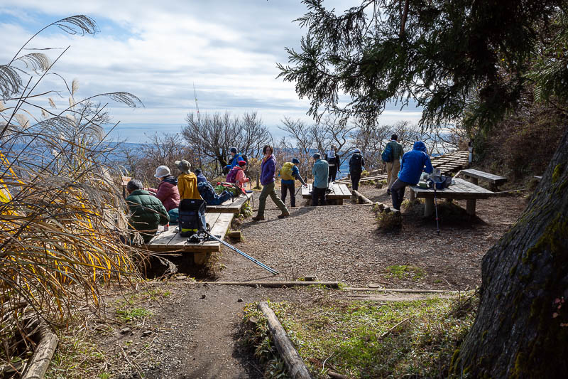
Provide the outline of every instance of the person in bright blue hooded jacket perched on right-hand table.
[[432,162],[430,162],[426,145],[422,141],[416,141],[413,149],[403,155],[398,178],[391,186],[391,196],[395,210],[400,210],[406,186],[415,186],[420,181],[422,171],[432,174],[434,168],[432,167]]

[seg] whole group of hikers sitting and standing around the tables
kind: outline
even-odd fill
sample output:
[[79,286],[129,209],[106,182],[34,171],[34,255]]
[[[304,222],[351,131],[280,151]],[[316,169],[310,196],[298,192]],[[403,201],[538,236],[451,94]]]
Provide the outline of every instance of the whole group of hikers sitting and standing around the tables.
[[[263,159],[261,161],[260,181],[262,191],[258,197],[258,210],[253,220],[265,220],[266,200],[270,196],[281,213],[278,218],[287,218],[290,211],[285,205],[286,197],[290,193],[290,206],[295,207],[295,181],[300,181],[302,186],[307,186],[306,181],[300,175],[298,164],[299,159],[293,158],[291,162],[283,164],[278,172],[281,181],[281,198],[275,191],[276,181],[276,159],[273,155],[273,148],[270,145],[263,146]],[[215,191],[212,184],[202,174],[200,169],[195,173],[191,171],[191,164],[185,159],[175,161],[175,165],[180,174],[174,176],[168,166],[158,166],[155,169],[155,178],[158,179],[158,188],[145,188],[138,179],[131,179],[126,185],[128,197],[126,203],[129,205],[131,217],[129,228],[137,230],[141,234],[145,243],[150,242],[158,230],[158,225],[168,225],[178,220],[180,203],[184,201],[207,203],[218,205],[224,203],[240,193],[246,193],[244,186],[250,183],[250,178],[246,177],[248,159],[241,154],[235,147],[229,149],[231,159],[224,168],[227,173],[226,182],[217,183],[218,191]],[[312,155],[312,206],[326,205],[326,193],[330,183],[334,183],[337,173],[341,173],[340,159],[337,148],[331,146],[326,151],[324,158],[320,153]],[[424,142],[417,141],[413,150],[404,152],[403,146],[398,143],[398,136],[393,134],[391,141],[386,145],[382,154],[383,161],[387,167],[387,193],[392,196],[393,208],[400,210],[403,202],[406,186],[418,183],[422,171],[432,173],[430,156],[427,154]],[[349,159],[349,174],[351,176],[351,187],[353,190],[359,189],[361,173],[364,170],[365,161],[359,149],[354,149]],[[236,192],[235,192],[236,191]],[[220,193],[217,193],[220,192]],[[196,208],[197,209],[197,208]],[[205,220],[204,206],[197,210],[200,219],[200,228],[207,229]],[[189,231],[197,232],[197,227],[193,225]]]

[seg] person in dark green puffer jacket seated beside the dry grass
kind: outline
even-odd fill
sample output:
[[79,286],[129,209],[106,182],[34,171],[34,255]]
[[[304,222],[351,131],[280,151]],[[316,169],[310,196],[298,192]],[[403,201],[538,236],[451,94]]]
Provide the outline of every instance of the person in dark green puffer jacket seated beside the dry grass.
[[136,230],[141,234],[144,243],[150,242],[158,231],[158,225],[170,222],[170,216],[162,202],[143,190],[142,182],[132,179],[126,185],[129,196],[126,204],[129,206],[129,230]]

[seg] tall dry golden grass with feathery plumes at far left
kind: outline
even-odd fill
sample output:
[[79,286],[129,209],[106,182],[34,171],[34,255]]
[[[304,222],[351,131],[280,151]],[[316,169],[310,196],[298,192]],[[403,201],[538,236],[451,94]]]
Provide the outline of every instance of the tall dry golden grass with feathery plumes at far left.
[[[97,32],[86,16],[50,26]],[[38,324],[31,320],[65,325],[78,307],[102,304],[104,285],[137,277],[136,250],[120,242],[127,209],[105,164],[104,106],[92,105],[94,97],[77,101],[78,82],[64,80],[69,107],[57,110],[35,88],[61,55],[21,51],[0,66],[0,359],[7,365],[29,347]],[[104,95],[141,104],[126,92]]]

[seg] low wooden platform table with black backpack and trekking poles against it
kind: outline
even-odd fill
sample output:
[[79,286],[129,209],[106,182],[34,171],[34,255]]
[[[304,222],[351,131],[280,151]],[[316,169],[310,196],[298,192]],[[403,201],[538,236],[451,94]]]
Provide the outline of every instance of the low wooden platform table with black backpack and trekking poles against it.
[[[233,213],[205,213],[205,221],[211,225],[212,235],[220,235],[220,238],[224,239],[233,216]],[[207,260],[207,255],[221,251],[221,242],[218,241],[187,242],[187,237],[180,236],[175,226],[170,225],[170,230],[153,237],[146,245],[148,250],[154,252],[193,252],[195,263],[198,265]]]

